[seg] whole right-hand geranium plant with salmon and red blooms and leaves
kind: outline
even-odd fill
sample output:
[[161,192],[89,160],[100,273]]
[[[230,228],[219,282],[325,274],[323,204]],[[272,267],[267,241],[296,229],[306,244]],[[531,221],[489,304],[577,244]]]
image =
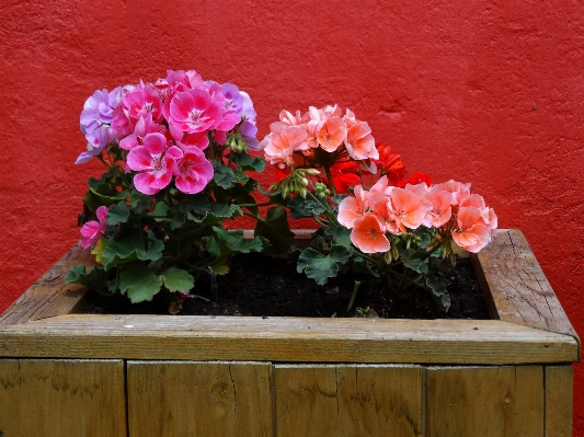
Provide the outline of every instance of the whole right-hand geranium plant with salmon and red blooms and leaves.
[[260,148],[277,166],[272,189],[289,197],[291,217],[319,225],[297,264],[318,284],[353,268],[390,288],[424,288],[447,310],[436,273],[456,254],[480,251],[495,232],[493,209],[470,184],[432,184],[423,173],[408,179],[400,156],[376,143],[350,110],[283,111]]

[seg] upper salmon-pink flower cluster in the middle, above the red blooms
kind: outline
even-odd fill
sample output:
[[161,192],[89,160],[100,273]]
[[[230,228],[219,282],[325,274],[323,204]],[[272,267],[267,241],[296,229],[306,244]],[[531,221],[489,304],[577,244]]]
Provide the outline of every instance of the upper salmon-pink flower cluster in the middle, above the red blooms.
[[260,149],[279,169],[305,165],[321,149],[332,153],[333,160],[348,156],[362,169],[376,171],[373,160],[379,159],[379,152],[371,129],[348,108],[344,115],[337,105],[320,110],[310,106],[305,114],[283,111],[279,122],[272,123],[270,128],[271,134],[260,142]]

